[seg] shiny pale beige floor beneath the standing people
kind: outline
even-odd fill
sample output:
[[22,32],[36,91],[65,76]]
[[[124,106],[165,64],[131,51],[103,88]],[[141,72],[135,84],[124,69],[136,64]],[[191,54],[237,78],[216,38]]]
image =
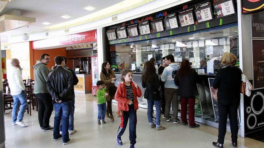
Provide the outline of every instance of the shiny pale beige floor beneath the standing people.
[[[42,132],[38,125],[38,116],[25,117],[24,122],[28,127],[12,126],[11,120],[5,120],[6,148],[35,148],[35,147],[95,147],[95,148],[122,148],[129,147],[128,128],[122,136],[123,146],[116,144],[116,132],[120,119],[115,117],[111,122],[106,119],[106,124],[97,124],[96,97],[91,94],[76,94],[75,101],[75,128],[77,133],[70,135],[70,143],[63,146],[62,141],[52,141],[52,131]],[[113,103],[113,112],[116,104]],[[50,120],[53,125],[54,113]],[[161,125],[167,129],[156,131],[149,128],[146,109],[137,111],[137,148],[212,148],[212,141],[217,140],[217,129],[201,125],[199,128],[190,129],[181,123],[173,124],[161,119]],[[231,148],[230,133],[226,133],[224,147]],[[238,147],[261,148],[264,143],[249,138],[238,138]]]

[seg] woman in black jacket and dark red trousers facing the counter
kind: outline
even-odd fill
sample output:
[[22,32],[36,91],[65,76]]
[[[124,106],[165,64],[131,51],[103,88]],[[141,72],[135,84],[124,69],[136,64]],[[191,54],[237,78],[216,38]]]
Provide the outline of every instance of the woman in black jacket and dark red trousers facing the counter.
[[179,86],[179,96],[181,97],[182,107],[182,125],[187,125],[187,105],[189,105],[189,128],[199,127],[199,124],[194,122],[194,105],[195,96],[198,95],[196,83],[200,81],[198,74],[194,69],[191,69],[190,62],[184,59],[181,63],[177,76],[174,82]]

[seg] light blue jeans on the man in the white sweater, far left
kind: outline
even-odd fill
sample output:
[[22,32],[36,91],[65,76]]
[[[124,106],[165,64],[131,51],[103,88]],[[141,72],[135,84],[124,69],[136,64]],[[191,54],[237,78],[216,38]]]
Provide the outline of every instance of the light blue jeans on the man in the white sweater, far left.
[[[26,97],[26,91],[21,91],[20,94],[13,95],[13,100],[14,100],[14,106],[12,110],[12,123],[21,122],[24,117],[24,113],[27,109],[28,102],[27,102],[27,97]],[[20,106],[21,103],[21,106]],[[17,116],[17,111],[19,109],[18,116]]]

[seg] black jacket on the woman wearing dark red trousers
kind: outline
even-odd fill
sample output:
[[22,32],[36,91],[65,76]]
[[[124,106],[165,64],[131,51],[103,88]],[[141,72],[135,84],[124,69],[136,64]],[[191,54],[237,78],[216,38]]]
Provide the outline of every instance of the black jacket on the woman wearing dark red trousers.
[[184,76],[179,77],[178,71],[176,75],[174,83],[179,86],[178,95],[180,97],[195,97],[198,95],[196,83],[199,83],[201,80],[194,69],[191,69],[190,73]]

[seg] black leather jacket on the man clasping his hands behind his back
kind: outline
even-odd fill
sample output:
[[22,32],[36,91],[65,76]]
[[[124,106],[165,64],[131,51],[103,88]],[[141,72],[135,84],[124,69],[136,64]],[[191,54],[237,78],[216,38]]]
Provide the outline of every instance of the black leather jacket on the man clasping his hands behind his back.
[[59,98],[62,102],[72,100],[72,73],[61,66],[49,73],[47,89],[52,96],[53,103]]

